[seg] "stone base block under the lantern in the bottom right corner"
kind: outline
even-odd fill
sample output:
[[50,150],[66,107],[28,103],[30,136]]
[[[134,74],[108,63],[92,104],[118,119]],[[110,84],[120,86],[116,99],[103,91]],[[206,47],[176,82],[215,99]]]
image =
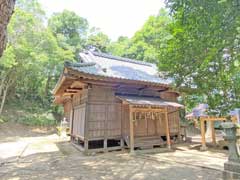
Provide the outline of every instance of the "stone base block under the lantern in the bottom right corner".
[[240,179],[240,163],[231,161],[224,163],[223,179]]

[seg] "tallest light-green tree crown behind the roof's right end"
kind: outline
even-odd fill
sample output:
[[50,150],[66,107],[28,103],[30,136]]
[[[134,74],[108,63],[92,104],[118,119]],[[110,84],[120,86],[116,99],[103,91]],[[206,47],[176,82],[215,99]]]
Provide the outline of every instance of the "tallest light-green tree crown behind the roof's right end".
[[[142,29],[135,33],[130,47],[131,56],[135,59],[160,63],[159,56],[166,48],[166,43],[171,37],[168,25],[171,18],[161,9],[157,16],[150,16]],[[133,53],[134,52],[134,53]]]

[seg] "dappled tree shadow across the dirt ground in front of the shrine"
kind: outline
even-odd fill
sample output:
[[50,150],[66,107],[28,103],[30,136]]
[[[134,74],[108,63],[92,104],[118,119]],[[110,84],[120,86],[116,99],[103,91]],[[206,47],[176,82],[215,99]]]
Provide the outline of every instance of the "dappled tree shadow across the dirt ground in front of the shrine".
[[221,179],[217,170],[152,160],[144,154],[111,152],[85,156],[68,142],[56,145],[58,151],[27,155],[5,164],[1,179]]

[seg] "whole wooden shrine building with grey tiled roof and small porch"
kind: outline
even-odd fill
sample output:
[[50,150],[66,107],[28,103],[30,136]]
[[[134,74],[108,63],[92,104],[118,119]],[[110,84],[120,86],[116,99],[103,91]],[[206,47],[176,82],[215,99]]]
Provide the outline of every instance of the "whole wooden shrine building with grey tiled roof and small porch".
[[179,94],[154,64],[85,51],[54,88],[71,139],[84,151],[170,147],[180,137]]

